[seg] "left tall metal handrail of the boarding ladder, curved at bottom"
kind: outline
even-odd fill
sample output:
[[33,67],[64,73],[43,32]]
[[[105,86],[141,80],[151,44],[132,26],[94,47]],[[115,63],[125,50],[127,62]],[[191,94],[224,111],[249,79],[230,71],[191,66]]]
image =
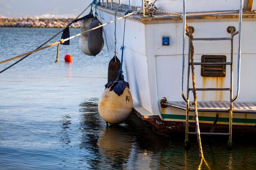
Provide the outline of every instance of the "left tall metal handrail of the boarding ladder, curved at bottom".
[[183,31],[182,31],[182,76],[181,76],[181,79],[182,79],[182,83],[181,83],[181,95],[182,95],[182,98],[188,102],[188,98],[186,98],[184,96],[184,67],[185,67],[185,64],[184,64],[184,61],[185,61],[185,36],[186,36],[186,4],[185,4],[185,0],[183,0]]

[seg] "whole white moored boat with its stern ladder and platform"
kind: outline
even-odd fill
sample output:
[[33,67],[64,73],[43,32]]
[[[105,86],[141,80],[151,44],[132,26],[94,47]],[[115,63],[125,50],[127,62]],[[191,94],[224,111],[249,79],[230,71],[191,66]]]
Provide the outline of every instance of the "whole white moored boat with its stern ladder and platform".
[[[115,19],[120,4],[123,11],[117,11],[117,17],[124,16],[129,6],[135,11],[135,6],[141,7],[143,0],[113,1],[104,0],[97,7],[102,24]],[[126,17],[123,69],[135,113],[160,133],[184,132],[186,139],[189,134],[195,134],[186,22],[194,30],[201,134],[228,135],[230,142],[232,133],[255,135],[256,13],[253,2],[255,0],[157,0],[155,7],[165,13],[151,13],[145,7],[144,12]],[[186,20],[170,12],[179,13]],[[117,57],[121,59],[119,47],[123,43],[124,20],[116,24]],[[114,30],[115,24],[103,27],[110,58],[114,56]]]

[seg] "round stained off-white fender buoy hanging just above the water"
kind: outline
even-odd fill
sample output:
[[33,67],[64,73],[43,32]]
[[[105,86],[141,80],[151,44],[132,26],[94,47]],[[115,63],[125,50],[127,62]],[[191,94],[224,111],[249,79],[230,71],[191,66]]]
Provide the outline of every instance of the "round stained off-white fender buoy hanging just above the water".
[[103,120],[111,124],[127,120],[132,113],[132,107],[132,95],[127,86],[120,96],[106,88],[99,98],[99,114]]

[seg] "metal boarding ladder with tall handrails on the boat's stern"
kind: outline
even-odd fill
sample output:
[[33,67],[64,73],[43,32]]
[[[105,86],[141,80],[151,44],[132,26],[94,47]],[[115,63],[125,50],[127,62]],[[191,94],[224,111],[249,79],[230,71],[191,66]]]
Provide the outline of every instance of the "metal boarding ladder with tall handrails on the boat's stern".
[[[184,61],[185,61],[185,54],[184,54],[184,47],[185,47],[185,37],[186,37],[186,5],[185,1],[183,0],[183,35],[182,35],[182,98],[186,102],[186,135],[185,135],[185,141],[188,141],[188,135],[189,134],[196,134],[195,132],[189,132],[189,91],[193,90],[189,88],[189,81],[190,81],[190,46],[189,46],[189,52],[188,52],[188,71],[187,71],[187,94],[184,95]],[[218,40],[230,40],[231,41],[231,61],[230,62],[220,62],[220,63],[194,63],[194,65],[230,65],[230,87],[229,88],[196,88],[198,91],[211,91],[211,90],[229,90],[230,91],[230,107],[229,107],[229,133],[216,133],[213,132],[216,122],[218,120],[218,111],[214,108],[210,109],[209,111],[216,111],[216,118],[213,122],[213,126],[211,128],[211,131],[208,132],[201,132],[201,134],[206,135],[229,135],[229,142],[228,144],[232,145],[232,117],[233,117],[233,102],[238,98],[239,91],[240,91],[240,56],[241,56],[241,22],[242,22],[242,6],[243,6],[243,0],[240,0],[240,8],[239,8],[239,28],[238,31],[234,32],[233,29],[230,29],[231,31],[231,37],[230,38],[194,38],[194,41],[218,41]],[[236,96],[233,97],[233,38],[235,35],[238,35],[238,68],[237,68],[237,90],[236,90]],[[208,108],[207,108],[208,109]],[[200,111],[200,110],[198,110]]]

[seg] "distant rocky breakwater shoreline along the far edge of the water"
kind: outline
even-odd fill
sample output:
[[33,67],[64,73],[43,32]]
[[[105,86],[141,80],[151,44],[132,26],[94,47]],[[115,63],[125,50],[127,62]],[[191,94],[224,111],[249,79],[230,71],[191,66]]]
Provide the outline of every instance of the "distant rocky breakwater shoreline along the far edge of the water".
[[[0,17],[0,27],[64,28],[74,19],[75,18]],[[80,22],[71,24],[70,28],[80,28]]]

